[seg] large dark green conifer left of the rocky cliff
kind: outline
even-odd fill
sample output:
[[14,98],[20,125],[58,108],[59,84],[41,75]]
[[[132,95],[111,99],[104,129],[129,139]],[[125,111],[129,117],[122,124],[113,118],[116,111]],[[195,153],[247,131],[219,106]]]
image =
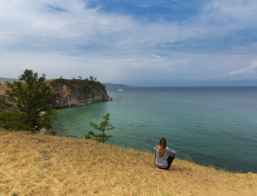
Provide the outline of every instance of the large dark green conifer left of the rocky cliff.
[[[53,94],[50,86],[44,84],[44,78],[44,76],[38,78],[37,72],[26,69],[19,76],[19,81],[7,82],[7,87],[11,90],[6,90],[5,94],[13,99],[20,111],[12,114],[17,116],[15,121],[17,128],[32,133],[42,127],[52,128],[51,117],[56,114],[56,110],[52,110],[48,104]],[[12,118],[14,119],[14,116]]]

